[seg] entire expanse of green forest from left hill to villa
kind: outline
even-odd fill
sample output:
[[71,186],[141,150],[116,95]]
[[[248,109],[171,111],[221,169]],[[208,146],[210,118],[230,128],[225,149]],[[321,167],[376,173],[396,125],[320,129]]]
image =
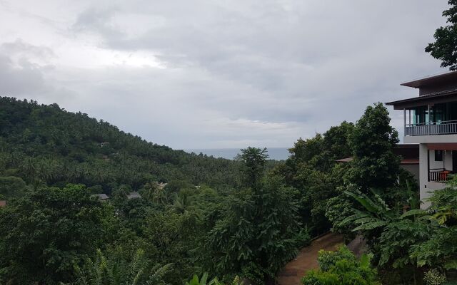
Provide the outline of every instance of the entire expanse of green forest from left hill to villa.
[[305,285],[421,284],[457,268],[457,182],[418,210],[381,103],[299,138],[285,162],[255,147],[190,155],[57,105],[0,103],[0,284],[274,284],[329,230],[363,235],[371,254],[321,252]]

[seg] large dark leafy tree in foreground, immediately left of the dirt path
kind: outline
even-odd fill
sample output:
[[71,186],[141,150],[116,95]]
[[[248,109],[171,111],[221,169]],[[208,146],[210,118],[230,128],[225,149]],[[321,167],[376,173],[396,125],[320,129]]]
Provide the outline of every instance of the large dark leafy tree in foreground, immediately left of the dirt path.
[[276,273],[295,257],[296,205],[277,177],[266,177],[257,192],[236,193],[218,212],[221,217],[206,240],[217,272],[236,274],[254,263]]

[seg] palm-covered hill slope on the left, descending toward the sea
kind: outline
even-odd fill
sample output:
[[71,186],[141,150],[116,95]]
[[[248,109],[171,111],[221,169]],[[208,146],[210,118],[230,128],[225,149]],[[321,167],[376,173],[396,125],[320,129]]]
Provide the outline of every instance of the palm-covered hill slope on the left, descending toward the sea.
[[138,190],[146,182],[171,180],[233,187],[236,165],[146,142],[56,104],[0,98],[1,176],[49,186],[83,183],[111,194],[120,185]]

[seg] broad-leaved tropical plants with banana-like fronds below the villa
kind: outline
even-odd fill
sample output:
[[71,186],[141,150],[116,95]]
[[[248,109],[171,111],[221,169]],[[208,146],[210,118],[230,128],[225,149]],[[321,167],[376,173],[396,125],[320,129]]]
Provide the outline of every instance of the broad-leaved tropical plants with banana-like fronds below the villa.
[[[347,220],[356,224],[371,242],[371,250],[380,266],[408,270],[413,276],[422,266],[457,268],[457,190],[456,178],[448,187],[433,192],[432,206],[427,210],[412,209],[398,212],[390,209],[382,199],[348,193],[364,210]],[[376,197],[376,196],[375,196]],[[345,222],[348,222],[348,221]]]

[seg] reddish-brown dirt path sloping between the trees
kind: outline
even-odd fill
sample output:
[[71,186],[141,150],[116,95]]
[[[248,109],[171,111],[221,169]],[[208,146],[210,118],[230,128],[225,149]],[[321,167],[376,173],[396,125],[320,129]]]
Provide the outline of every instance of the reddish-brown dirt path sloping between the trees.
[[329,233],[311,242],[309,247],[301,249],[298,256],[290,261],[278,274],[279,285],[300,285],[300,279],[309,269],[318,269],[317,254],[321,249],[334,250],[343,244],[343,237]]

